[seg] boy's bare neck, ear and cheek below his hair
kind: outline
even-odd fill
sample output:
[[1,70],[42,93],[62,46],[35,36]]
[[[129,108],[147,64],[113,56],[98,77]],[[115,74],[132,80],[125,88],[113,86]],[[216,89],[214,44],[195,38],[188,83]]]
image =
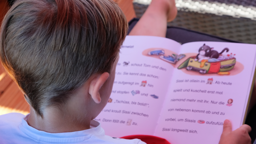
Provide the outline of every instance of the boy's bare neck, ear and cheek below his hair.
[[[110,76],[108,73],[95,75],[92,80],[88,80],[83,86],[74,91],[65,106],[60,106],[60,108],[56,106],[47,107],[44,109],[42,117],[30,106],[28,125],[49,133],[90,129],[91,120],[99,115],[109,100],[117,62],[118,59],[115,60]],[[100,96],[99,103],[95,102],[94,96]]]

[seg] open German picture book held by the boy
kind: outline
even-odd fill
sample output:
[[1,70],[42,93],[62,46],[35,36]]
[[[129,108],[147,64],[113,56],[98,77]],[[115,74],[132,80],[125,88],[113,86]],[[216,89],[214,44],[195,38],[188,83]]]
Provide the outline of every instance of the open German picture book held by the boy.
[[223,121],[245,121],[256,46],[127,36],[108,104],[106,135],[153,135],[170,143],[219,142]]

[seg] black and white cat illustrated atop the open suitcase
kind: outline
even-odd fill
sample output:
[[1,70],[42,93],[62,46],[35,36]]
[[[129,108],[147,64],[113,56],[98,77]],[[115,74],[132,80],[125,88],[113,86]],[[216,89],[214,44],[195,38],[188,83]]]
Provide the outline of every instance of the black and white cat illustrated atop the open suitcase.
[[218,58],[220,54],[223,52],[228,52],[228,48],[224,48],[220,53],[218,53],[216,50],[213,50],[213,47],[210,48],[207,45],[203,45],[202,47],[199,48],[199,54],[196,56],[195,61],[198,60],[198,62],[201,62],[203,59],[210,59],[210,58]]

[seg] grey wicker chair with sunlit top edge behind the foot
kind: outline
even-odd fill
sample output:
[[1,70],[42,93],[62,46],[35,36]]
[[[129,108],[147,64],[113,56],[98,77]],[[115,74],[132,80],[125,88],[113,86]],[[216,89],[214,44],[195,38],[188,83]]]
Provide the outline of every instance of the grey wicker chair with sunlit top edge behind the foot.
[[[255,0],[176,0],[177,17],[168,26],[182,27],[202,33],[256,44]],[[151,0],[134,0],[140,18]]]

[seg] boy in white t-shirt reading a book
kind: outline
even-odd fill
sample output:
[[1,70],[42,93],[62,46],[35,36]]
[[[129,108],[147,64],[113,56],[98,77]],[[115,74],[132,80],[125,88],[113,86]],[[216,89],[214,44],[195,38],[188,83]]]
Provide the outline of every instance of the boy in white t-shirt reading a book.
[[[154,0],[130,34],[165,36],[176,12],[173,0]],[[145,20],[162,28],[147,31]],[[127,27],[108,0],[17,1],[1,27],[0,57],[30,114],[0,116],[1,143],[144,143],[105,136],[93,120],[110,97]],[[231,132],[226,120],[220,143],[249,143],[248,131]]]

